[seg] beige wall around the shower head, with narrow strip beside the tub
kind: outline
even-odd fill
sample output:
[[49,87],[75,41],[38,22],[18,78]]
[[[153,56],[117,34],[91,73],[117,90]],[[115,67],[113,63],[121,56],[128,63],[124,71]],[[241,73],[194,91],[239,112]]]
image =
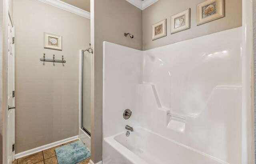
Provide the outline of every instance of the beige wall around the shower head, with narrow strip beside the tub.
[[[92,11],[92,10],[91,10]],[[124,32],[134,35],[124,37]],[[142,49],[142,11],[125,0],[94,0],[95,106],[92,111],[92,161],[102,160],[103,41]]]

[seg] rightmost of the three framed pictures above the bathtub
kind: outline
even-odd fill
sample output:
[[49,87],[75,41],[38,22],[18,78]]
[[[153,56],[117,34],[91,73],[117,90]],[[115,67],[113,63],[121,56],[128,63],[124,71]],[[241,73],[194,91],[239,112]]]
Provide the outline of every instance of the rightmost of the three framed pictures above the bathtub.
[[197,26],[224,17],[224,0],[206,0],[196,8]]

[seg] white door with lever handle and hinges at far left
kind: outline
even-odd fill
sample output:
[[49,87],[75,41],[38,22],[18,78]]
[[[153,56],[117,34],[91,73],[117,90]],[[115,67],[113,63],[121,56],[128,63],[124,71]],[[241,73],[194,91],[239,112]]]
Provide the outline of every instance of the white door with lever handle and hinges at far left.
[[14,26],[8,17],[8,118],[7,118],[7,157],[8,164],[12,164],[15,157],[15,92],[14,92]]

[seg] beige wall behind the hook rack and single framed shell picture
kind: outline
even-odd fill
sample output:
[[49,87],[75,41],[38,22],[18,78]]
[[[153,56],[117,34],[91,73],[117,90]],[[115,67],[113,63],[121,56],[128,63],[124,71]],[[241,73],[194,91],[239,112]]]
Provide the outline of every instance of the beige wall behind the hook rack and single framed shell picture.
[[[78,135],[79,50],[90,20],[38,0],[14,0],[16,153]],[[44,32],[61,35],[62,51],[44,48]],[[66,63],[41,62],[46,58]]]

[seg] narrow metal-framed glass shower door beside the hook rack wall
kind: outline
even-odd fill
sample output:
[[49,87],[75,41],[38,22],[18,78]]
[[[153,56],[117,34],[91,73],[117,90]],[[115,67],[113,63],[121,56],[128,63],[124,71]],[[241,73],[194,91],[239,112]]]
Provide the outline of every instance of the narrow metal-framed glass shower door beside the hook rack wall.
[[92,54],[82,55],[82,122],[81,128],[91,135],[91,66]]

